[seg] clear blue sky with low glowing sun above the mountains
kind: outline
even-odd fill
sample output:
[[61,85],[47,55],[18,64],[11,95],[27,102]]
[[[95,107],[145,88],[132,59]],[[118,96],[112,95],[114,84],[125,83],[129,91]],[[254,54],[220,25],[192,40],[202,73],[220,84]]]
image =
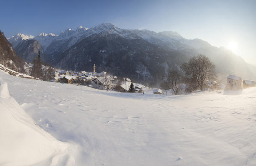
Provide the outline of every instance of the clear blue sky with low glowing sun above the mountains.
[[230,48],[256,64],[256,0],[4,0],[0,29],[59,34],[78,26],[112,23],[125,29],[176,31]]

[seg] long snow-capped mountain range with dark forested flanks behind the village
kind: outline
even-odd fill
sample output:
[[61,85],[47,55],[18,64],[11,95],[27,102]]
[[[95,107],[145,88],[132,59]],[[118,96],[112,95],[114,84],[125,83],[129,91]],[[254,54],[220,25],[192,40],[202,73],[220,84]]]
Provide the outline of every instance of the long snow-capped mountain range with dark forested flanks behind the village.
[[200,39],[185,39],[177,32],[121,29],[102,23],[88,29],[79,26],[59,35],[18,34],[8,38],[19,56],[28,62],[41,52],[44,62],[68,70],[105,70],[134,81],[159,83],[168,69],[177,68],[194,55],[204,54],[216,65],[222,79],[232,74],[256,79],[256,67],[224,47]]

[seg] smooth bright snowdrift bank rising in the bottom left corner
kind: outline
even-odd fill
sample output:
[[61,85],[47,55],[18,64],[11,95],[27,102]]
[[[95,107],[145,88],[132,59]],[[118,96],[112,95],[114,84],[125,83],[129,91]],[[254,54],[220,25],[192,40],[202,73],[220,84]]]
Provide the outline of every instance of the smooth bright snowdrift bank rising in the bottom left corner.
[[74,165],[74,159],[66,154],[68,143],[56,140],[38,127],[10,96],[7,83],[1,78],[0,124],[1,166],[58,165],[63,164],[61,160]]

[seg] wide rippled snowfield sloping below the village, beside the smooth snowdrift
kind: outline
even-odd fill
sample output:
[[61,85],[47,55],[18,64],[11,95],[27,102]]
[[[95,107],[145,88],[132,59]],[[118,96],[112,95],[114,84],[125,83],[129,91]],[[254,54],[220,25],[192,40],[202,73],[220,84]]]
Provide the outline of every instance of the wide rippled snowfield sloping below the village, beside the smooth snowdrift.
[[164,96],[0,77],[41,128],[76,145],[78,166],[256,165],[256,88]]

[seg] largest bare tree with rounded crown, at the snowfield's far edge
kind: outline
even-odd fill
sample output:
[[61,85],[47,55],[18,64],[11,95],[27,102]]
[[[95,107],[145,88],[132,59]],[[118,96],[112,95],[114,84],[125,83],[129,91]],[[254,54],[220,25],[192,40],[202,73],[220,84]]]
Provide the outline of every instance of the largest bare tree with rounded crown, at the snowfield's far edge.
[[196,55],[186,63],[182,64],[182,70],[185,72],[186,84],[199,87],[203,90],[203,85],[207,80],[215,79],[215,64],[213,64],[205,55]]

